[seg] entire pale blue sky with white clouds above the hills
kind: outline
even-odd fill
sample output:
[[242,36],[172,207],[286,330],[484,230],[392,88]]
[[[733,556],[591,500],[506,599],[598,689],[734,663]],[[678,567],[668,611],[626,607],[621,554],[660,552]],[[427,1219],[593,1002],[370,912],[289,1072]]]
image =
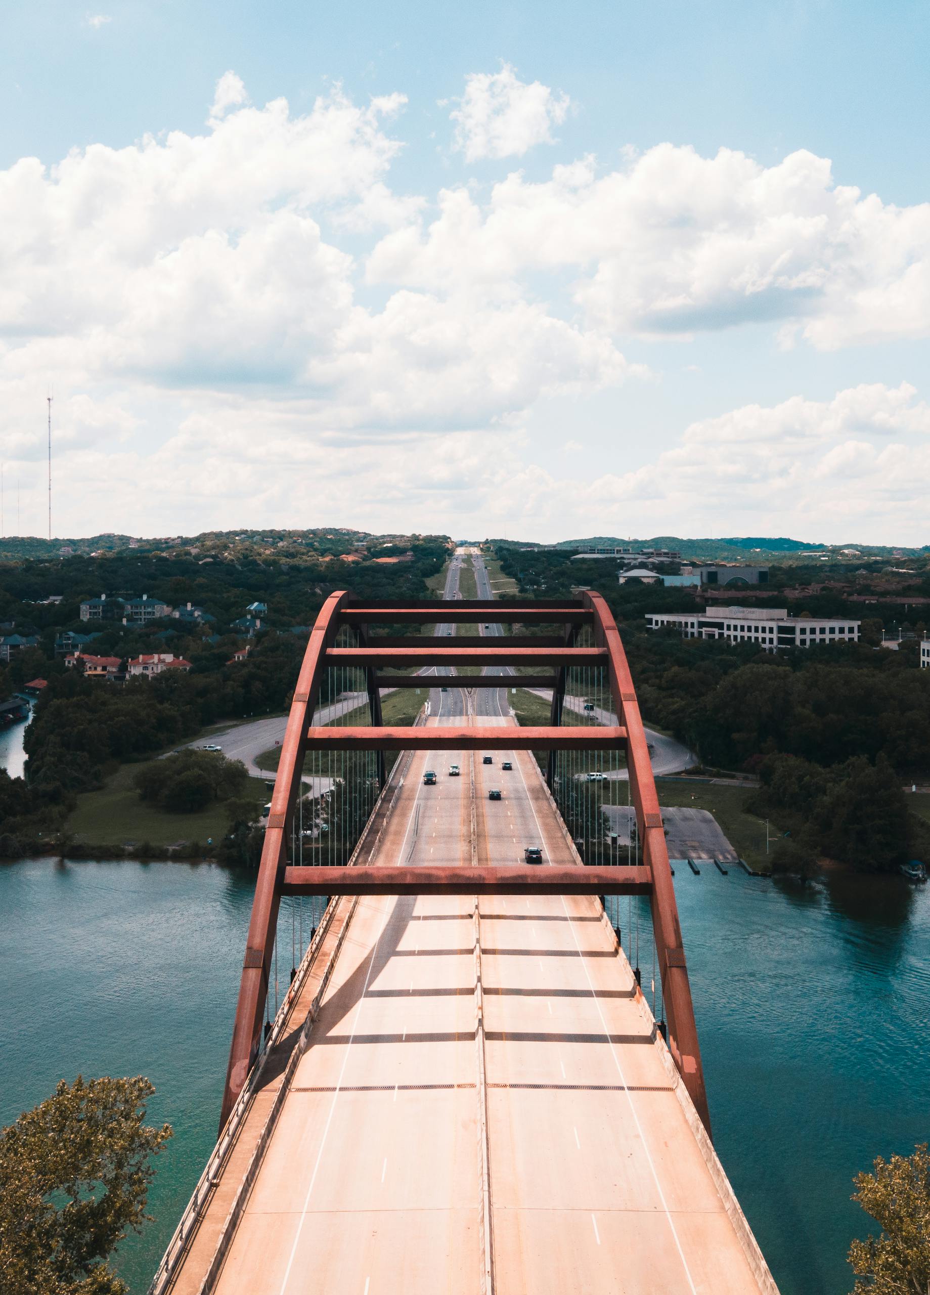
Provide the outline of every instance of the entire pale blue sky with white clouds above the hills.
[[22,530],[52,383],[62,534],[929,541],[929,28],[924,3],[8,4]]

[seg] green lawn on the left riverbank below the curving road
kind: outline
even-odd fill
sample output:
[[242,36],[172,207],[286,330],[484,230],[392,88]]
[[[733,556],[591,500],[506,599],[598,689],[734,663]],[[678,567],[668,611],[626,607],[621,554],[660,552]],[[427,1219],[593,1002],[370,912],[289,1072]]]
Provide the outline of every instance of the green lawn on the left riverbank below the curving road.
[[[142,764],[123,764],[106,780],[100,791],[85,791],[78,796],[78,808],[69,815],[62,828],[88,844],[123,846],[149,842],[153,846],[175,846],[180,842],[209,837],[216,842],[227,830],[227,811],[223,804],[211,804],[199,813],[167,813],[145,800],[132,785]],[[249,780],[246,795],[256,804],[264,804],[268,791],[259,778]]]

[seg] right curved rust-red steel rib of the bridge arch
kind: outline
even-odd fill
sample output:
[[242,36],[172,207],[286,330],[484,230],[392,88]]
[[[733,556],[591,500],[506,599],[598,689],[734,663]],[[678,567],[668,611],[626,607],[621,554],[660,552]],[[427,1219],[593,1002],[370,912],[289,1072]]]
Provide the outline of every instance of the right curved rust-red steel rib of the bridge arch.
[[636,807],[636,825],[642,843],[642,862],[652,869],[650,906],[662,976],[662,998],[668,1020],[668,1048],[685,1088],[710,1134],[707,1090],[701,1064],[694,1004],[692,1001],[684,940],[675,901],[675,884],[662,828],[662,812],[649,760],[646,734],[623,650],[617,622],[600,593],[585,592],[584,602],[595,614],[595,642],[609,655],[607,676],[617,717],[627,730],[627,769]]

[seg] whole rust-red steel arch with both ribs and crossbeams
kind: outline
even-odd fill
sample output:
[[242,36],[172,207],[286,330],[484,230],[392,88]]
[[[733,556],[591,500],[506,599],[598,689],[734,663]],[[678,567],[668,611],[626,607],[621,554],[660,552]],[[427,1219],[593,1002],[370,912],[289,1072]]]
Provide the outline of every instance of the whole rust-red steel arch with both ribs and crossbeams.
[[[512,633],[505,640],[457,635],[452,641],[447,636],[422,633],[377,633],[378,628],[420,628],[438,620],[453,625],[481,625],[487,616],[492,616],[495,623],[553,627],[557,632]],[[582,640],[588,645],[580,645]],[[505,671],[516,667],[528,670],[519,676],[521,688],[552,690],[549,724],[503,729],[479,725],[392,728],[382,723],[382,689],[424,688],[424,672],[439,672],[447,667],[483,668],[479,675],[442,680],[449,686],[478,689],[506,688],[514,680]],[[496,672],[488,673],[488,670]],[[571,671],[578,670],[602,672],[613,712],[619,721],[615,726],[573,728],[563,724],[566,680]],[[364,680],[361,699],[367,701],[367,725],[312,726],[321,697],[332,692],[328,680],[334,671],[348,671]],[[342,675],[343,680],[347,677]],[[433,680],[434,686],[435,682]],[[337,862],[317,859],[308,866],[301,865],[302,859],[294,846],[295,815],[303,796],[304,760],[310,754],[317,752],[330,761],[345,761],[364,754],[364,767],[369,773],[367,782],[373,785],[370,824],[377,816],[376,794],[383,796],[385,752],[495,749],[547,751],[550,789],[557,782],[560,754],[622,754],[628,771],[640,861],[611,861],[587,868],[409,868],[398,861],[372,868],[365,866],[360,852],[355,851],[351,857]],[[405,605],[357,602],[347,592],[329,596],[310,636],[281,747],[246,940],[220,1129],[260,1052],[281,896],[404,894],[648,896],[668,1049],[710,1133],[684,941],[646,737],[620,635],[600,594],[583,592],[574,601]]]

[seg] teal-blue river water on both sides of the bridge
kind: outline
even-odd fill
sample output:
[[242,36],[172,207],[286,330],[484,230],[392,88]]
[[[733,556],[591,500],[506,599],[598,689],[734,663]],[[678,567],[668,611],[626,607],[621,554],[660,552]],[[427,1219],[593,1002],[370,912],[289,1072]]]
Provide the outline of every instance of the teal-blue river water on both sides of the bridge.
[[[930,1138],[930,887],[714,868],[675,886],[720,1158],[782,1295],[841,1295],[868,1229],[852,1176]],[[60,1077],[144,1074],[150,1120],[175,1128],[154,1221],[119,1257],[133,1295],[216,1134],[253,887],[211,864],[0,866],[0,1123]]]

